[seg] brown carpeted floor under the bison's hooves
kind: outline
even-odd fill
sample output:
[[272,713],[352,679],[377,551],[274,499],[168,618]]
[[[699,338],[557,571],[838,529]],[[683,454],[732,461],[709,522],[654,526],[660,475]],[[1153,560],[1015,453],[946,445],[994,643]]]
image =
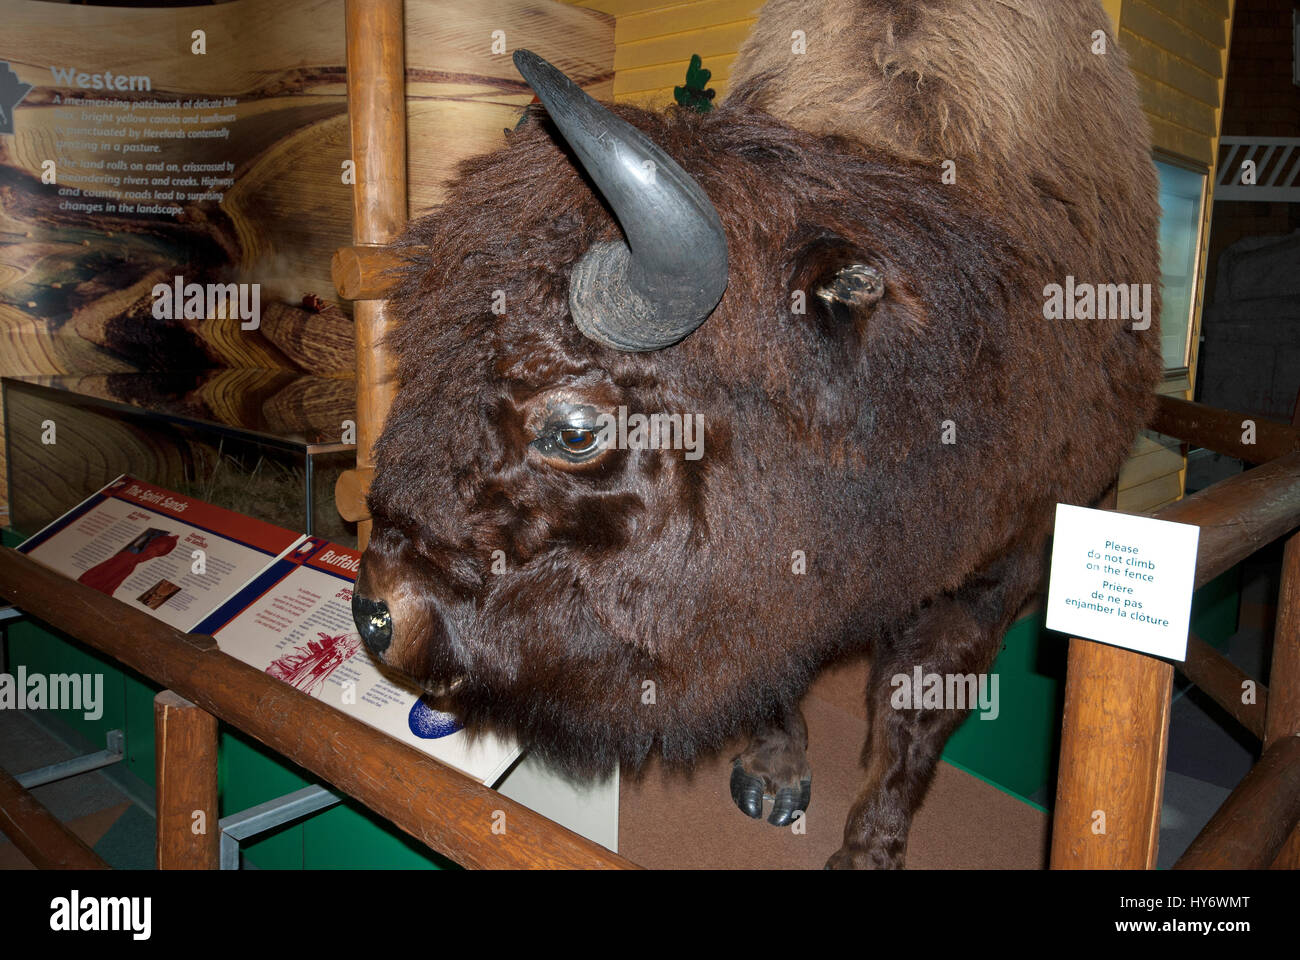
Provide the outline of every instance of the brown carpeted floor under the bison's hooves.
[[[651,766],[624,777],[619,852],[655,869],[820,869],[838,847],[862,783],[866,667],[824,674],[807,699],[812,804],[806,833],[749,820],[728,792],[732,757],[744,743],[690,774]],[[941,764],[913,825],[911,869],[1044,869],[1048,816],[997,787]]]

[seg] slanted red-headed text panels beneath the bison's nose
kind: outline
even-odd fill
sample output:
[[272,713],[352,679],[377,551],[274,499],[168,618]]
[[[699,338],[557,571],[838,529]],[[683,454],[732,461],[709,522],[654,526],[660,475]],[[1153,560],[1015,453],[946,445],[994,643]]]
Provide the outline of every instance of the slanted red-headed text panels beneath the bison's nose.
[[356,550],[120,476],[18,546],[32,559],[481,780],[520,748],[471,736],[384,674],[352,623]]

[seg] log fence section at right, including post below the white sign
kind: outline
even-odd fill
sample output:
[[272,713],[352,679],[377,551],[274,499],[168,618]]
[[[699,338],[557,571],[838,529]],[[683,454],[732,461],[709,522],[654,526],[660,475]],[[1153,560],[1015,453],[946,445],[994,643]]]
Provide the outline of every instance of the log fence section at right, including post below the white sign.
[[[1152,428],[1264,464],[1154,514],[1201,528],[1197,587],[1300,527],[1295,423],[1161,397]],[[1262,738],[1264,756],[1179,866],[1292,865],[1300,859],[1300,535],[1288,541],[1283,561],[1270,688],[1196,637],[1183,670]],[[1166,661],[1070,640],[1053,868],[1156,865],[1173,679],[1174,665]]]

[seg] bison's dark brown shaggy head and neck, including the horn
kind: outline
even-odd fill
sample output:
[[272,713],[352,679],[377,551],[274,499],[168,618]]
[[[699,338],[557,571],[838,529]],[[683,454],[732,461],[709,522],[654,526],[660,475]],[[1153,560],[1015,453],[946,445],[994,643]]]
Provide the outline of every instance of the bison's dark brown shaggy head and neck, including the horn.
[[546,112],[404,239],[354,601],[437,706],[573,773],[688,760],[1113,477],[1079,438],[1140,419],[1132,334],[1044,333],[1005,202],[516,62]]

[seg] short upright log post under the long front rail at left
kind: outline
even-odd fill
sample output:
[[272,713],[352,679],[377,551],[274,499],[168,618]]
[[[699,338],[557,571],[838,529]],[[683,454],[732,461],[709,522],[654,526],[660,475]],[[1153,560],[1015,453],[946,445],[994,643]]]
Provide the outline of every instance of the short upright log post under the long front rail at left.
[[169,689],[153,697],[157,868],[216,870],[217,718]]

